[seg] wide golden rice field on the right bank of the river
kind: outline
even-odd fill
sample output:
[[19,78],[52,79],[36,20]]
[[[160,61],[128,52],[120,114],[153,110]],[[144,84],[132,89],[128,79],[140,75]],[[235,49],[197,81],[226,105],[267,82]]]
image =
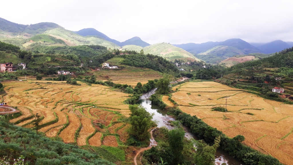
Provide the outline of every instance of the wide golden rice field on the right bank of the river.
[[[229,137],[241,134],[244,144],[274,156],[283,164],[292,164],[293,105],[216,82],[188,82],[176,88],[172,99],[183,112],[196,115]],[[212,107],[225,107],[226,96],[228,112],[211,111]]]

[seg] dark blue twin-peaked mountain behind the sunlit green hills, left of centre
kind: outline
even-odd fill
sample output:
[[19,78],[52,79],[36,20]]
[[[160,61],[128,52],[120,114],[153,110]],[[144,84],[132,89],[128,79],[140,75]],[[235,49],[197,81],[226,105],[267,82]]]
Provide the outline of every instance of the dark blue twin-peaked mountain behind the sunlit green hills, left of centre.
[[125,46],[125,45],[137,45],[137,46],[142,46],[142,47],[146,47],[146,46],[149,46],[150,44],[142,41],[142,39],[140,39],[139,37],[133,37],[133,38],[130,38],[124,42],[119,42],[119,41],[116,41],[114,39],[111,39],[109,38],[108,36],[106,36],[105,34],[97,31],[96,29],[94,28],[85,28],[85,29],[82,29],[80,31],[76,31],[75,33],[81,35],[81,36],[99,36],[107,41],[110,41],[110,42],[113,42],[119,46]]

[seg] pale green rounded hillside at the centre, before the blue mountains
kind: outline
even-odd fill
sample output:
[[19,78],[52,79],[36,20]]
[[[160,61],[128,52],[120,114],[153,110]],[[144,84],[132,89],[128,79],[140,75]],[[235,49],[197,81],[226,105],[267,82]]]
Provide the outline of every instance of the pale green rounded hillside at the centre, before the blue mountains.
[[144,50],[144,54],[149,53],[153,55],[159,55],[163,58],[166,58],[167,60],[188,57],[188,58],[193,58],[197,61],[200,61],[198,58],[196,58],[194,55],[187,52],[186,50],[183,50],[182,48],[178,48],[168,43],[156,43],[156,44],[144,47],[143,50]]

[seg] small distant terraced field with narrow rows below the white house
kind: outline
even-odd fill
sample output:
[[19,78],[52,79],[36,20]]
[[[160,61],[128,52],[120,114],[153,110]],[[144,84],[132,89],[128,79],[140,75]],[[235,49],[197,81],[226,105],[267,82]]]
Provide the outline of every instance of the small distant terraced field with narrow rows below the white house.
[[97,80],[112,80],[113,83],[135,86],[138,82],[146,84],[148,80],[162,78],[162,73],[151,69],[123,69],[123,70],[99,70],[93,72]]

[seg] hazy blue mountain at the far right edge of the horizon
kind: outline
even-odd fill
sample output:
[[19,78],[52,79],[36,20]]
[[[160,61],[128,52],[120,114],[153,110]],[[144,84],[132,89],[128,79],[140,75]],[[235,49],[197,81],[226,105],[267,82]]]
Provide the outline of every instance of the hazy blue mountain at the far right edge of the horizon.
[[293,42],[284,42],[281,40],[272,41],[270,43],[253,43],[253,45],[257,46],[263,53],[275,53],[286,48],[291,48],[293,46]]

